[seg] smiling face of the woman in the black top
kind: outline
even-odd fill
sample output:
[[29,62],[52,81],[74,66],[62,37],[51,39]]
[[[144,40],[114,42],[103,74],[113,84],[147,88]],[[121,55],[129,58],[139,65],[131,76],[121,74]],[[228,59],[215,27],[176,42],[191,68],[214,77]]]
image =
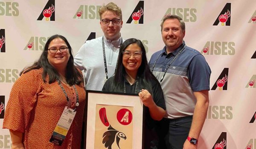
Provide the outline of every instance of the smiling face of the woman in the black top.
[[[125,54],[122,56],[122,64],[125,67],[125,71],[128,74],[137,74],[138,69],[142,62],[142,53],[141,48],[137,45],[137,43],[132,43],[128,45],[124,52],[131,53],[131,57],[126,58]],[[138,58],[135,58],[137,54],[140,54]]]

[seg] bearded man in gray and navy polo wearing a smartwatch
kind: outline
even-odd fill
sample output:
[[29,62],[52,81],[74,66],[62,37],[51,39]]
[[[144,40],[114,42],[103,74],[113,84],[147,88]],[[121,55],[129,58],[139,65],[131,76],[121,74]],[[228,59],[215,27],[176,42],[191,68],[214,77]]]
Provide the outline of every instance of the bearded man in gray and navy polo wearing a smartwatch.
[[183,41],[185,22],[179,16],[167,15],[161,32],[165,47],[149,61],[166,100],[158,148],[197,149],[209,105],[211,70],[204,56]]

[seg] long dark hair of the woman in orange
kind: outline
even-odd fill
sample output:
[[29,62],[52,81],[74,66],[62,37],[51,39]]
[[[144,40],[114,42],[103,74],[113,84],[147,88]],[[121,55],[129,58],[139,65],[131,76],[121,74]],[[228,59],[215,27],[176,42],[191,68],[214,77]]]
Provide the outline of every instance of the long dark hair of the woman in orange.
[[36,61],[33,65],[31,65],[29,67],[25,67],[20,72],[20,76],[23,73],[29,72],[30,70],[43,68],[44,71],[42,73],[42,79],[44,80],[45,83],[46,83],[47,74],[49,76],[49,84],[51,84],[52,82],[55,82],[56,79],[60,79],[58,71],[52,65],[50,65],[50,63],[47,59],[47,55],[48,55],[47,51],[48,51],[48,48],[49,48],[49,44],[55,38],[60,38],[60,39],[64,40],[64,42],[67,45],[68,51],[70,53],[70,58],[67,62],[67,67],[66,67],[67,69],[66,69],[66,76],[65,76],[67,83],[69,85],[80,84],[83,80],[83,76],[81,75],[81,73],[79,73],[77,68],[74,66],[74,57],[72,55],[72,48],[71,48],[69,42],[67,41],[67,39],[64,36],[61,36],[61,35],[58,35],[58,34],[53,35],[52,37],[50,37],[47,40],[47,42],[44,46],[44,51],[42,52],[38,61]]

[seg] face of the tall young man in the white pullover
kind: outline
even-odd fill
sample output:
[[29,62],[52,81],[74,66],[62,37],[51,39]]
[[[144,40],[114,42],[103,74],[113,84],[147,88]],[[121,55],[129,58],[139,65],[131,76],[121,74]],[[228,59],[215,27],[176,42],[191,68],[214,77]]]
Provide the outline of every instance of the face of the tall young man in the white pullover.
[[[104,19],[108,19],[108,20],[120,19],[120,16],[116,15],[114,13],[114,11],[108,10],[102,14],[101,19],[102,20],[104,20]],[[123,21],[120,20],[119,24],[117,24],[117,25],[113,25],[112,22],[110,22],[109,25],[104,25],[102,23],[102,21],[100,21],[100,26],[102,28],[102,31],[103,31],[105,37],[108,40],[117,40],[120,37],[120,30],[122,28],[122,23],[123,23]]]

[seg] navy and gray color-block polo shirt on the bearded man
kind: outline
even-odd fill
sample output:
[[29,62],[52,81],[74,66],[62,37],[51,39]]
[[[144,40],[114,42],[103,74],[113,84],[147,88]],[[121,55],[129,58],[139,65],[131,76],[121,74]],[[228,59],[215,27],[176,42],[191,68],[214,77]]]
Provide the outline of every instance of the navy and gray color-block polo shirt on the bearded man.
[[[155,63],[153,74],[159,82],[172,59],[184,45],[183,41],[179,48],[169,54],[166,53],[165,46],[163,50],[151,56],[149,66],[152,70]],[[197,50],[186,46],[172,62],[160,83],[166,102],[165,117],[180,118],[193,115],[196,104],[193,92],[210,89],[210,74],[211,69],[204,56]]]

